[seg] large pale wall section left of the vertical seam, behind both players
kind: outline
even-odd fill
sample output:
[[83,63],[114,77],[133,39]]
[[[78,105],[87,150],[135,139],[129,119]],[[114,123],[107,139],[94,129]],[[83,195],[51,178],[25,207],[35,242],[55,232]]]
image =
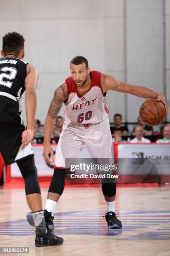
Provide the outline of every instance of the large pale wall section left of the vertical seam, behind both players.
[[[40,79],[37,113],[42,123],[53,92],[70,75],[69,63],[85,56],[91,69],[124,79],[123,0],[13,0],[1,3],[0,36],[18,31],[25,37],[25,60]],[[6,6],[13,3],[13,8]],[[124,96],[108,94],[110,118],[124,112]],[[61,111],[63,115],[63,108]]]

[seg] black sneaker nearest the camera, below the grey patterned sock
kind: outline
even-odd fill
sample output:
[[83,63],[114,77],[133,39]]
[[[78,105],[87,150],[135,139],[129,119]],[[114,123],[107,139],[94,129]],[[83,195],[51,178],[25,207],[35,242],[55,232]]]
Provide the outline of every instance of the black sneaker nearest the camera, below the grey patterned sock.
[[40,231],[36,230],[35,246],[58,246],[61,245],[64,240],[61,237],[55,236],[51,231],[46,234],[42,234]]

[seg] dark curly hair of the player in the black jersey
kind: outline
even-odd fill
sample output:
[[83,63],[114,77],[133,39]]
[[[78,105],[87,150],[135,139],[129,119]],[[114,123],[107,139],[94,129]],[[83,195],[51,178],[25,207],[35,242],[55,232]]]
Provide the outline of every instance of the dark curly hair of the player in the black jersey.
[[4,54],[13,53],[18,55],[24,49],[24,41],[22,35],[17,32],[9,32],[2,38],[2,50]]

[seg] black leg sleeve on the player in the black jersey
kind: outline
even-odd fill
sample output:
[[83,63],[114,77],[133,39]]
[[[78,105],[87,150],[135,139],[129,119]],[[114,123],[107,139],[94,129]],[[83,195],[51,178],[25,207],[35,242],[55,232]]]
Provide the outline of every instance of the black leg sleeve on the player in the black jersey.
[[40,185],[37,177],[37,168],[35,166],[34,156],[17,161],[20,172],[25,182],[25,194],[34,194],[40,192]]

